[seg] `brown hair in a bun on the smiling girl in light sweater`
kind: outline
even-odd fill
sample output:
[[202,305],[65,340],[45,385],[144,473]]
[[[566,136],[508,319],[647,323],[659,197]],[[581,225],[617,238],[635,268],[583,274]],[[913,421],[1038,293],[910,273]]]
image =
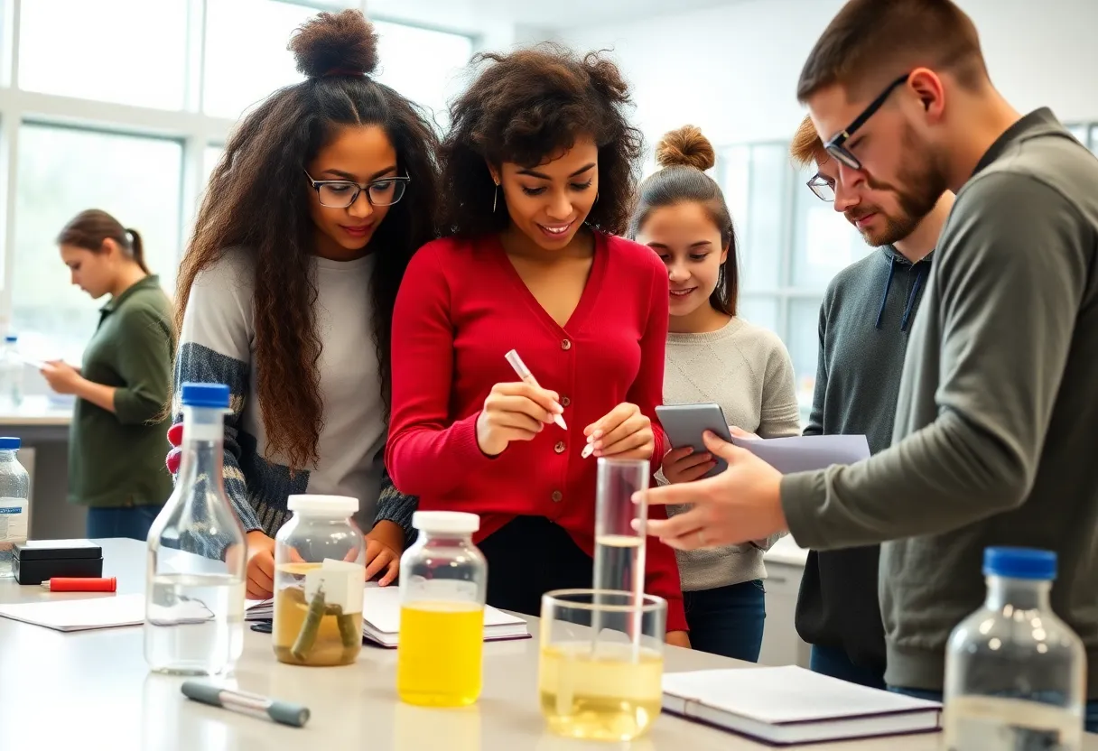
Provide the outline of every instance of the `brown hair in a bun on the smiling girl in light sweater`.
[[705,173],[717,162],[713,144],[702,135],[701,128],[684,125],[664,135],[657,144],[656,161],[661,169],[640,183],[637,205],[629,221],[629,237],[637,237],[656,209],[680,203],[699,204],[720,231],[721,249],[728,249],[728,256],[720,265],[717,288],[709,295],[709,304],[725,315],[736,315],[740,293],[736,229],[720,186]]

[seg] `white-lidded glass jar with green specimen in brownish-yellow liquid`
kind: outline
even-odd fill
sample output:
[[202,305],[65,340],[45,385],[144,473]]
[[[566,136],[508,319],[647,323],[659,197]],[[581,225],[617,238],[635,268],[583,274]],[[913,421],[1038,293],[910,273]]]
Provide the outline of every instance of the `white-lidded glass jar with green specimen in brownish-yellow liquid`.
[[293,665],[346,665],[362,649],[366,540],[358,500],[291,495],[274,538],[274,657]]

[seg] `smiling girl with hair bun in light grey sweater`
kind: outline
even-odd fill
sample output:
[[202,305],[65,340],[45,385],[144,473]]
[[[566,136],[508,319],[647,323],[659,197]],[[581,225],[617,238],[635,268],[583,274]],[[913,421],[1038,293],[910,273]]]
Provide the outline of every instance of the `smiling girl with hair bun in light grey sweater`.
[[[641,184],[629,236],[668,269],[670,333],[664,404],[715,402],[725,419],[766,438],[800,433],[793,362],[773,332],[736,315],[736,232],[716,181],[715,154],[687,125],[656,147],[661,169]],[[656,479],[691,482],[714,467],[707,453],[672,449]],[[688,506],[669,506],[669,514]],[[762,554],[771,536],[713,550],[676,551],[691,644],[755,662],[766,618]]]

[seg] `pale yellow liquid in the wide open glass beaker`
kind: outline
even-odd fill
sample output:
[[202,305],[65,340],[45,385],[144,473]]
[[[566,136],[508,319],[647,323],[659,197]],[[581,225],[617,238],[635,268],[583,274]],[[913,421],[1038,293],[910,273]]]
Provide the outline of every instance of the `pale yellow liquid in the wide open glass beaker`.
[[631,644],[557,643],[541,648],[538,693],[553,732],[585,740],[627,741],[660,715],[663,658]]

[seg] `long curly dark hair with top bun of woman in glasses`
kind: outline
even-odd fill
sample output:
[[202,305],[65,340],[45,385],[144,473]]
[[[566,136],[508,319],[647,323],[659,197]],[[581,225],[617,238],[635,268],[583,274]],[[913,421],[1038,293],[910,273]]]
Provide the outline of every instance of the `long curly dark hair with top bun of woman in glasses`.
[[194,278],[226,248],[255,258],[255,369],[271,452],[291,468],[315,464],[323,427],[321,340],[310,273],[315,226],[305,166],[340,126],[380,125],[410,178],[370,239],[379,248],[369,294],[384,403],[391,391],[393,305],[415,250],[437,236],[438,136],[425,114],[370,78],[377,34],[359,11],[321,13],[289,48],[306,79],[276,91],[236,127],[210,178],[179,270],[176,329]]

